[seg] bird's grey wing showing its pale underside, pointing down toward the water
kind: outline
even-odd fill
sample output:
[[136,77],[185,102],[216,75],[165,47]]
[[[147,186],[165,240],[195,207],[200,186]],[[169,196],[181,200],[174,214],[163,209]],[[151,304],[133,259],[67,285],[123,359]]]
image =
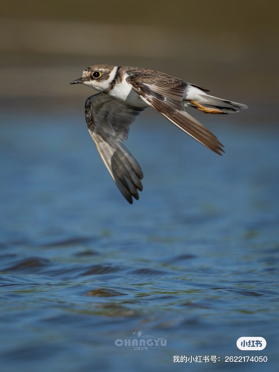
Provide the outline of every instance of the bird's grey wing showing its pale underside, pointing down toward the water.
[[123,141],[128,138],[129,125],[142,110],[144,108],[126,105],[105,93],[94,94],[85,103],[92,140],[116,186],[131,204],[132,196],[138,199],[138,190],[142,191],[143,174]]

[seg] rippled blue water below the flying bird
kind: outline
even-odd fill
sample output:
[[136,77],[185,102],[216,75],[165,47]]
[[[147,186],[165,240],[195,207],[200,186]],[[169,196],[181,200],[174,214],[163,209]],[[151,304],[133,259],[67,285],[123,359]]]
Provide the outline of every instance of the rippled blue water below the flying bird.
[[[144,191],[129,205],[82,110],[2,113],[1,371],[278,371],[279,129],[198,118],[224,156],[159,115],[132,125]],[[115,345],[136,328],[166,346]],[[225,362],[244,355],[268,361]]]

